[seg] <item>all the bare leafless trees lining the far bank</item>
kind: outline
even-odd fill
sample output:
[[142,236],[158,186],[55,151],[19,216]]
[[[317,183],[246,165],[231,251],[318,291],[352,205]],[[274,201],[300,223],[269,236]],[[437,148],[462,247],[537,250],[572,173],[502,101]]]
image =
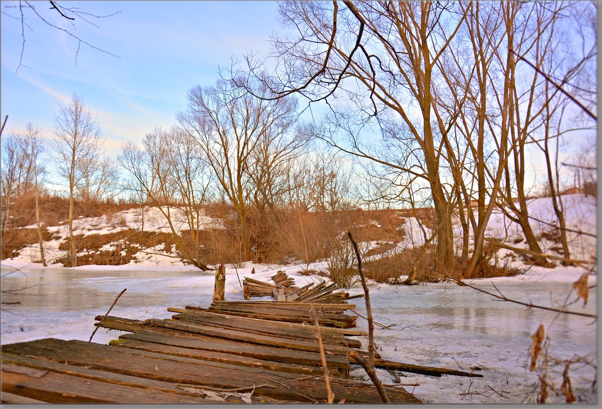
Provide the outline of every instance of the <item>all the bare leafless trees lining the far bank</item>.
[[[122,147],[122,187],[141,208],[161,209],[184,259],[208,268],[199,231],[209,201],[231,206],[244,261],[275,240],[265,232],[258,238],[258,226],[282,230],[283,210],[301,220],[355,198],[432,206],[425,242],[440,271],[479,275],[494,211],[518,223],[533,262],[548,265],[528,205],[536,174],[530,156],[539,152],[538,183],[550,192],[570,262],[562,172],[591,167],[565,165],[562,152],[566,141],[595,129],[594,3],[291,1],[280,14],[290,30],[272,40],[274,70],[247,56],[229,79],[190,89],[176,126]],[[327,114],[303,124],[298,101],[326,103]],[[78,95],[61,106],[53,133],[72,237],[73,199],[107,198],[117,174],[101,158],[99,126]],[[39,140],[29,126],[4,143],[3,232],[10,198],[38,186]],[[358,167],[361,175],[350,171]],[[358,186],[363,193],[352,192]],[[76,253],[72,241],[72,265]]]

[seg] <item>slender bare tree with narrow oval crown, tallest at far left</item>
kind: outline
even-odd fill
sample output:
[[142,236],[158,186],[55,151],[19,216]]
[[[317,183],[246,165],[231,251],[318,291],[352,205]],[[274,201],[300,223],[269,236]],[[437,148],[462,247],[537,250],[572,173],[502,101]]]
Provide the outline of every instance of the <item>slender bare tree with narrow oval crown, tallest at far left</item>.
[[84,99],[73,94],[67,105],[60,105],[52,128],[55,139],[56,172],[69,192],[69,260],[77,266],[77,249],[73,240],[73,201],[90,166],[98,163],[104,142],[96,115]]

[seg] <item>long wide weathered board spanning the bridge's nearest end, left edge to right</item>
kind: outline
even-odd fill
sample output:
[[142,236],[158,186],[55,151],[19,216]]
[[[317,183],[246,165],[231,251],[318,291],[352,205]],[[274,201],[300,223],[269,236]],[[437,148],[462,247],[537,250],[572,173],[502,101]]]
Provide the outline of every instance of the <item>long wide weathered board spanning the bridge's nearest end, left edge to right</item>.
[[[154,357],[152,353],[144,356],[133,354],[134,351],[128,348],[57,339],[4,345],[3,350],[14,354],[46,357],[55,362],[66,360],[71,365],[180,384],[220,388],[255,387],[254,395],[258,397],[268,396],[284,401],[303,402],[326,400],[323,378],[312,375],[309,378],[299,378],[299,375],[295,374],[267,369],[249,370],[241,366],[234,366],[237,368],[234,371],[232,366],[227,364],[208,366],[199,360],[195,360],[199,363],[173,361],[172,358]],[[282,384],[287,387],[282,387]],[[340,399],[346,398],[349,403],[380,402],[374,387],[370,385],[349,383],[343,386],[343,383],[332,383],[332,390],[335,396]],[[405,390],[389,388],[387,392],[393,402],[419,402],[415,396]]]

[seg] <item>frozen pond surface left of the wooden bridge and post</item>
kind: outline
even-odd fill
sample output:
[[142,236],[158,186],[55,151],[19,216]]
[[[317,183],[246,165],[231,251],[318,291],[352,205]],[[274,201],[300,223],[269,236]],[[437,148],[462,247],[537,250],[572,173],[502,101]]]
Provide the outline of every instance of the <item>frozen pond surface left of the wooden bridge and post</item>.
[[[167,318],[167,307],[208,306],[213,273],[196,271],[84,270],[2,268],[2,344],[52,336],[88,341],[96,315],[104,315],[124,288],[111,315],[144,320]],[[108,342],[120,332],[99,329],[95,342]]]

